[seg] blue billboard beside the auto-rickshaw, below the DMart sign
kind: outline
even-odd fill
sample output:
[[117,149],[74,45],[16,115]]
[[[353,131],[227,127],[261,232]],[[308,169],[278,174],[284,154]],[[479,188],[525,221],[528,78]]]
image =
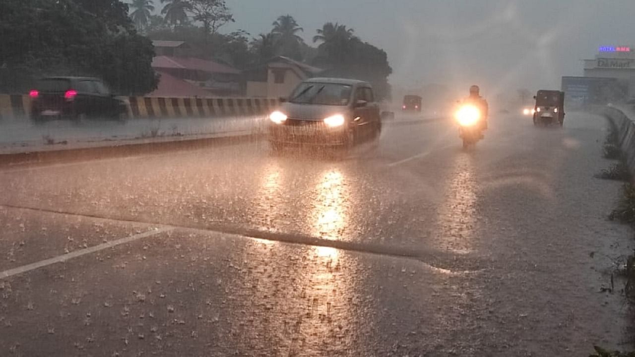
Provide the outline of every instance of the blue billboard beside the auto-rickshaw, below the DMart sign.
[[603,77],[562,77],[561,90],[565,92],[568,107],[620,102],[628,94],[616,78]]

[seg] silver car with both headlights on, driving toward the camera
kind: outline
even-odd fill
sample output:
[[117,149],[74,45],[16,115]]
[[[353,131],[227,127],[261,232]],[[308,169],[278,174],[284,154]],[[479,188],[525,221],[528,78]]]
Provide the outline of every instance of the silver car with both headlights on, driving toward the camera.
[[351,147],[378,138],[382,130],[373,88],[353,79],[307,79],[269,119],[274,150],[293,145]]

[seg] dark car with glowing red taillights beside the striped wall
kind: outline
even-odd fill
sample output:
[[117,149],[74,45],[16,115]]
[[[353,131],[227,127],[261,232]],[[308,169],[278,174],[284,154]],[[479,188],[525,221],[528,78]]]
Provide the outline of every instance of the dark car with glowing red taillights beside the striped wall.
[[128,116],[126,100],[110,92],[101,79],[93,77],[44,77],[31,97],[31,119],[110,118]]

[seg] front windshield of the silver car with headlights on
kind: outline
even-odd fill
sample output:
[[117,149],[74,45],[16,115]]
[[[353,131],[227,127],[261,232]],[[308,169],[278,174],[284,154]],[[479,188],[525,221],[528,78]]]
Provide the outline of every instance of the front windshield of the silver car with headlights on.
[[289,102],[295,104],[347,105],[352,86],[336,83],[302,83],[291,93]]

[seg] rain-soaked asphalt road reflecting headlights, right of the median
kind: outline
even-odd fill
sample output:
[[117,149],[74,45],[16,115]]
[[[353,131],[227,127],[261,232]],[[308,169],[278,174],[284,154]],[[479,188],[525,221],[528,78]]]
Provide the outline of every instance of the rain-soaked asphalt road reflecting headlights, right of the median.
[[[405,123],[411,121],[411,123]],[[587,356],[629,347],[605,121],[398,115],[347,155],[266,142],[0,170],[0,356]]]

